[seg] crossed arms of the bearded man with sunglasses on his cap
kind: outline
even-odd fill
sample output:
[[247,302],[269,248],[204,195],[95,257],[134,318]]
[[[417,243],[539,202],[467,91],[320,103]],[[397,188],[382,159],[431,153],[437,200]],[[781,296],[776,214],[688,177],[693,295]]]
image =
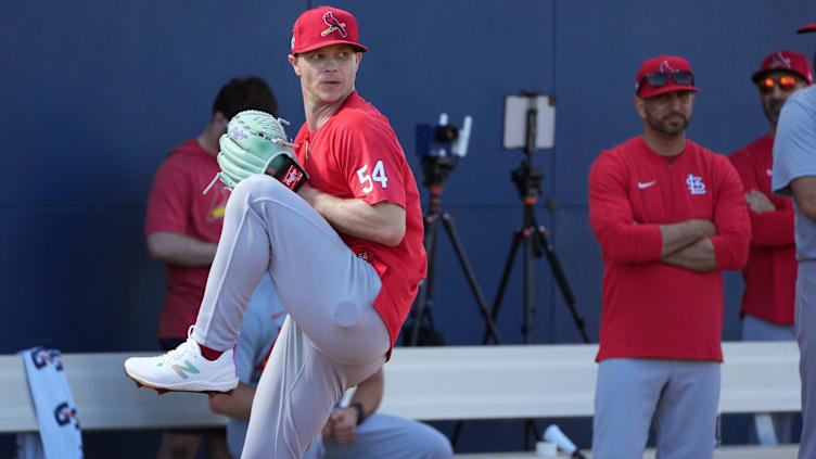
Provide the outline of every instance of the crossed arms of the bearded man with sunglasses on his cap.
[[[726,158],[723,161],[727,162]],[[672,221],[675,214],[693,215],[691,208],[668,208],[630,195],[626,167],[602,154],[589,174],[589,219],[604,256],[620,264],[663,263],[693,271],[737,270],[748,259],[751,225],[742,183],[729,164],[719,163],[712,176],[711,219]],[[659,197],[658,197],[659,199]],[[635,208],[665,215],[637,221]],[[656,220],[656,221],[655,221]]]

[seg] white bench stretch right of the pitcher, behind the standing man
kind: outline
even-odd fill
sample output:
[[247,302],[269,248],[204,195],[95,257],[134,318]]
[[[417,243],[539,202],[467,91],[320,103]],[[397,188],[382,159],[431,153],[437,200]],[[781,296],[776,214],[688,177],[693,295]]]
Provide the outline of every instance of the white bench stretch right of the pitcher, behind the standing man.
[[[597,345],[408,347],[385,366],[383,412],[422,420],[591,417]],[[792,342],[724,343],[719,411],[801,410]]]

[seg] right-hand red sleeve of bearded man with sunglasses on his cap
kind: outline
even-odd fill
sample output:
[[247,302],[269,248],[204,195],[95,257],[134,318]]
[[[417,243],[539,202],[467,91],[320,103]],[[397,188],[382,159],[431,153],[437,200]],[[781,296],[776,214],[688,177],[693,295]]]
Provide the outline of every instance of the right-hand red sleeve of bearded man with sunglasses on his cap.
[[711,238],[714,244],[717,270],[738,270],[745,266],[751,243],[751,222],[742,189],[742,182],[734,166],[722,157],[714,167],[717,175],[717,199],[714,204],[714,225],[717,235]]

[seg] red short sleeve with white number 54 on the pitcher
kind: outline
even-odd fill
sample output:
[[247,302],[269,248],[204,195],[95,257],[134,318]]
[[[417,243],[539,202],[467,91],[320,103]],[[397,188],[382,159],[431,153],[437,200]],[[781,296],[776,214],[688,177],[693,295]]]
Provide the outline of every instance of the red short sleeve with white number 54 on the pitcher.
[[349,124],[337,151],[337,164],[355,197],[406,206],[403,148],[387,125]]

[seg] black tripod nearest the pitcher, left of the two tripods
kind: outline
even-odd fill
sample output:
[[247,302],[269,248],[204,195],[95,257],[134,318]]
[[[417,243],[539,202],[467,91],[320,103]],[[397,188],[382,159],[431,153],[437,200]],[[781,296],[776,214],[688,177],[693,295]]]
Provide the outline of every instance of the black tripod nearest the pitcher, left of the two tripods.
[[408,342],[411,346],[418,344],[420,327],[425,317],[430,320],[430,310],[433,306],[434,271],[436,267],[436,228],[439,220],[442,220],[448,237],[450,237],[450,242],[454,244],[456,255],[459,257],[459,263],[462,265],[462,270],[468,278],[470,289],[473,292],[479,309],[487,326],[487,335],[492,336],[497,344],[501,343],[493,316],[487,309],[487,302],[476,283],[476,277],[473,275],[470,263],[468,263],[468,257],[464,255],[464,250],[459,242],[459,237],[456,234],[454,217],[448,213],[441,213],[442,190],[445,180],[450,175],[455,165],[456,161],[448,156],[422,157],[422,170],[425,175],[424,184],[431,190],[431,200],[424,219],[425,238],[423,241],[425,253],[428,254],[428,275],[425,276],[425,281],[420,285],[417,299],[413,303],[413,324],[411,327],[410,341]]

